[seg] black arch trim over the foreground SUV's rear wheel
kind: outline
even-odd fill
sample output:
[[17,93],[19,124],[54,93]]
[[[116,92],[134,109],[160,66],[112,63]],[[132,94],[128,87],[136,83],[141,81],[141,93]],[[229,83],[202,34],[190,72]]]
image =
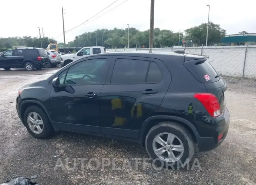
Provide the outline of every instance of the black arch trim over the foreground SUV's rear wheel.
[[199,136],[195,126],[192,123],[190,123],[188,120],[186,120],[184,118],[176,117],[176,116],[162,115],[162,116],[152,116],[144,121],[144,123],[141,126],[140,133],[139,133],[140,143],[142,143],[144,145],[147,133],[150,130],[150,128],[152,128],[154,125],[156,125],[162,121],[175,121],[176,123],[185,127],[189,131],[189,133],[191,133],[195,142],[200,140],[200,136]]

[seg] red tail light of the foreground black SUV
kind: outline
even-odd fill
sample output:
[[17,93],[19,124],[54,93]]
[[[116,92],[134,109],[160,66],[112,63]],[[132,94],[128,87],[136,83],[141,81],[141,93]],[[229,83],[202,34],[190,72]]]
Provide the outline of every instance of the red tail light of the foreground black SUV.
[[211,93],[196,93],[194,98],[198,99],[209,112],[211,117],[218,117],[221,115],[221,108],[218,98]]

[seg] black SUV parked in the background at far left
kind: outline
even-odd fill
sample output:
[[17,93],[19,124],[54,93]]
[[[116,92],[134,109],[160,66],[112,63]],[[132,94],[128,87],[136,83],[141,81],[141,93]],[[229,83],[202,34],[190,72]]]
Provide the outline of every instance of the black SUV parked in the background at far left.
[[9,70],[12,67],[25,68],[32,71],[41,69],[49,57],[45,49],[35,47],[21,47],[7,50],[0,56],[0,68]]

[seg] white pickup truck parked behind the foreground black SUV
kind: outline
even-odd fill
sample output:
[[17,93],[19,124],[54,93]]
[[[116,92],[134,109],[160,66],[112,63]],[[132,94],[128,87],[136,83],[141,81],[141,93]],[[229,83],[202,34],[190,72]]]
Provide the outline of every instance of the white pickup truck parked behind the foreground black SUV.
[[83,47],[81,50],[79,50],[76,53],[61,55],[62,60],[60,61],[60,65],[66,66],[70,62],[73,62],[74,60],[79,59],[81,57],[85,57],[87,55],[92,55],[92,54],[99,54],[99,53],[106,53],[105,47],[102,47],[102,46]]

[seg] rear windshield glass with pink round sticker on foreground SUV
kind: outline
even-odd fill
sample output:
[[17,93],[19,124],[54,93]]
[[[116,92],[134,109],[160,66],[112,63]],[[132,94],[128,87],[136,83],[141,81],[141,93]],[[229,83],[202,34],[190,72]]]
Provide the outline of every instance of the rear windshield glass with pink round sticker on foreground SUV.
[[218,73],[207,60],[203,62],[198,62],[196,64],[191,63],[191,61],[188,61],[184,62],[184,65],[189,70],[189,72],[195,77],[195,79],[200,83],[217,82],[221,78],[215,78],[215,76]]

